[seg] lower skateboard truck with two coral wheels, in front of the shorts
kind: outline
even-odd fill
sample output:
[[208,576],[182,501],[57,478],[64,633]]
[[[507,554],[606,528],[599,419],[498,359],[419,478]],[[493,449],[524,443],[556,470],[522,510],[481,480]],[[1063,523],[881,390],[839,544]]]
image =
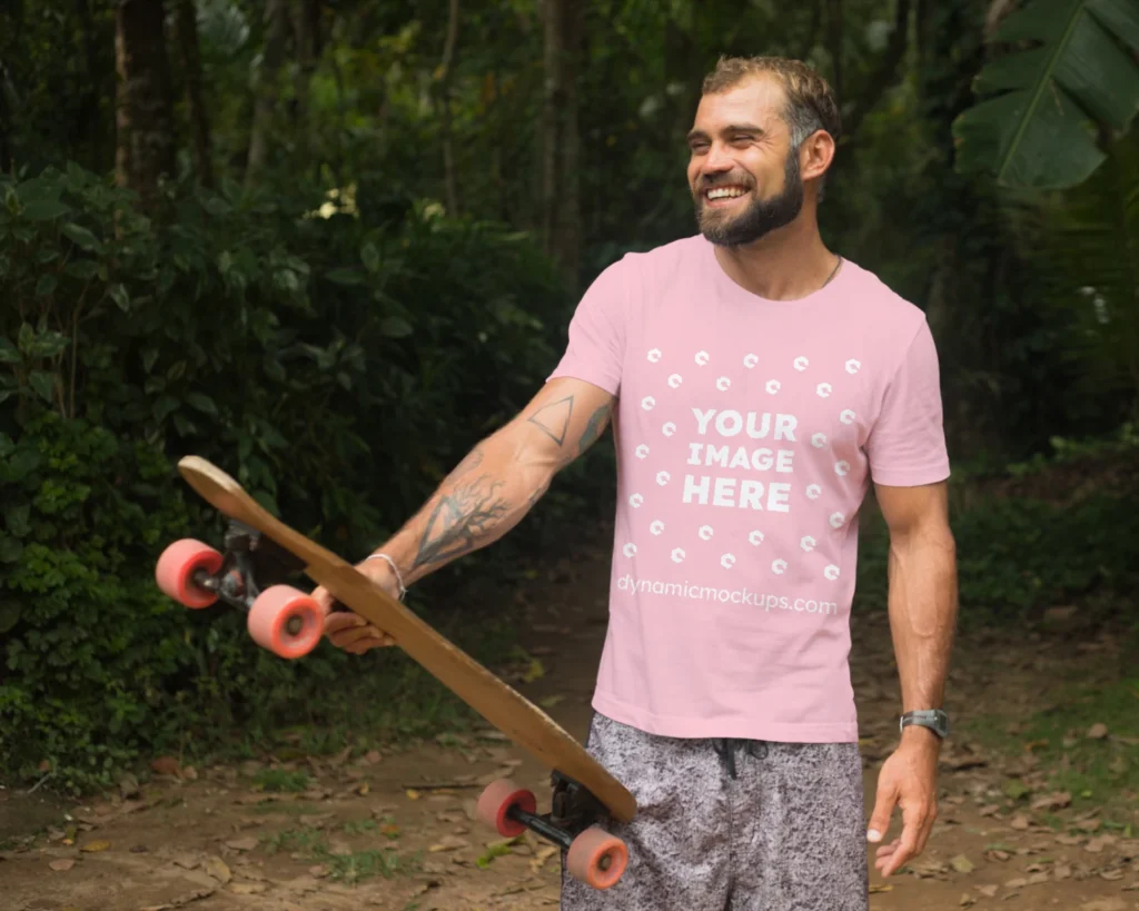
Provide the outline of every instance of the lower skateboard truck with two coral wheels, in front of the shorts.
[[533,791],[499,779],[478,798],[478,816],[505,838],[516,838],[526,829],[536,832],[562,848],[571,876],[593,888],[609,888],[624,873],[629,850],[598,826],[606,810],[587,788],[560,772],[554,772],[551,780],[549,813],[538,813]]

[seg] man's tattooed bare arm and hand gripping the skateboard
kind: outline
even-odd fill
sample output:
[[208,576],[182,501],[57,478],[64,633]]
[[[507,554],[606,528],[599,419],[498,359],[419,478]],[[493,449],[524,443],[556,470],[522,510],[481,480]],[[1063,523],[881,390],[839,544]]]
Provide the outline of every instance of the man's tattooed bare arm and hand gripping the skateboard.
[[[518,415],[476,445],[424,507],[376,550],[399,568],[404,585],[497,541],[531,510],[554,476],[605,432],[614,396],[584,380],[547,383]],[[385,560],[358,566],[394,590]],[[313,592],[326,607],[323,589]],[[326,632],[334,645],[360,653],[391,640],[352,614],[331,614]]]

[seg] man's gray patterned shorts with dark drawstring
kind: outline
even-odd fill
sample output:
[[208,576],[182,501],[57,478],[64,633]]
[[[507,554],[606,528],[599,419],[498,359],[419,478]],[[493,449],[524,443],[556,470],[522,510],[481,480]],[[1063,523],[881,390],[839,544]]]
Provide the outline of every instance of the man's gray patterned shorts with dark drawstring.
[[597,714],[589,752],[637,797],[611,889],[562,877],[563,911],[867,911],[857,744],[682,740]]

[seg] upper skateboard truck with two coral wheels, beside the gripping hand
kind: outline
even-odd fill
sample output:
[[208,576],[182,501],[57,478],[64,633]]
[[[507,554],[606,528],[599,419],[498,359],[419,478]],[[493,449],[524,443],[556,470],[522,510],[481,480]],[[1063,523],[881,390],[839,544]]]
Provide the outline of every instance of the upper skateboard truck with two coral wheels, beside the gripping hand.
[[236,519],[223,541],[224,553],[192,539],[167,547],[155,567],[158,588],[186,607],[221,600],[244,610],[253,640],[282,658],[312,651],[323,632],[323,612],[303,591],[280,584],[304,561]]

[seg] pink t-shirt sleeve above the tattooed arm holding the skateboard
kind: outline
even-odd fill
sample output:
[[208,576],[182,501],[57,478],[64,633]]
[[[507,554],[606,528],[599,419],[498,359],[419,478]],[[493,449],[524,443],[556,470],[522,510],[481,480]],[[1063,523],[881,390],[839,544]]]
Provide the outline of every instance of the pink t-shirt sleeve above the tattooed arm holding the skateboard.
[[589,286],[570,321],[562,361],[548,379],[574,377],[617,394],[625,354],[630,266],[628,258],[613,263]]

